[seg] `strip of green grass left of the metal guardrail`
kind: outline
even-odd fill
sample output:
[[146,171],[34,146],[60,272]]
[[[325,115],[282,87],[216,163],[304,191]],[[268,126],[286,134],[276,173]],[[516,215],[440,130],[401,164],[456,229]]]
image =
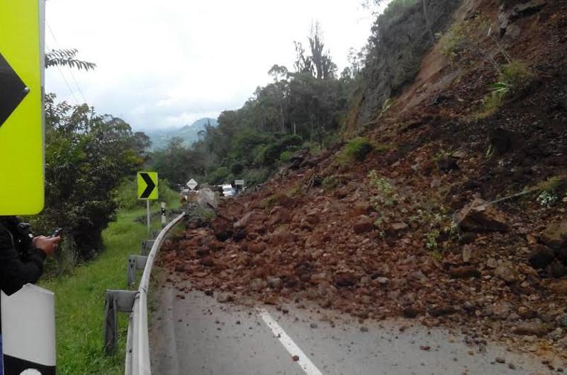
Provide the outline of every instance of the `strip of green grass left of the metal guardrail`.
[[[179,202],[169,202],[170,208]],[[159,210],[157,203],[152,211]],[[72,275],[40,282],[55,292],[57,374],[123,374],[128,314],[119,313],[119,339],[116,355],[103,354],[104,291],[128,289],[128,255],[140,253],[147,238],[146,226],[134,221],[145,209],[123,209],[103,231],[106,250],[95,260],[76,267]],[[152,229],[159,229],[154,220]]]

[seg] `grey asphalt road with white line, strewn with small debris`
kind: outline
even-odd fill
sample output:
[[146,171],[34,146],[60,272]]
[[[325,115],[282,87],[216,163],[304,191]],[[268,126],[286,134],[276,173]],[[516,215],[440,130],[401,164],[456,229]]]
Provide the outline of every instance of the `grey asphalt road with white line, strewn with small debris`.
[[[185,299],[177,294],[168,285],[155,292],[154,374],[549,373],[528,354],[490,343],[481,350],[466,344],[462,335],[415,321],[361,324],[292,305],[283,313],[274,306],[220,304],[202,292],[185,294]],[[497,357],[505,363],[495,362]]]

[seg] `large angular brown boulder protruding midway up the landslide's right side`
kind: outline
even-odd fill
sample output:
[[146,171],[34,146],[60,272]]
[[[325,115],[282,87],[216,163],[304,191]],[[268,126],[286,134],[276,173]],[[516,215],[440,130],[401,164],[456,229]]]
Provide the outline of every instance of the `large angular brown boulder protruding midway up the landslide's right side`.
[[485,201],[476,199],[471,204],[461,209],[458,217],[459,226],[464,231],[488,232],[510,230],[510,226],[500,212]]

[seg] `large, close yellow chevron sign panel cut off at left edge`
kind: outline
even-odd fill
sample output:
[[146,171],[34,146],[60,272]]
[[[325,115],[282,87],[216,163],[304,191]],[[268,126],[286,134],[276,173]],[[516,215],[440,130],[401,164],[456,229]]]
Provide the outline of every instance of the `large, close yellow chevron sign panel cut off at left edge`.
[[0,215],[44,204],[45,0],[0,0]]

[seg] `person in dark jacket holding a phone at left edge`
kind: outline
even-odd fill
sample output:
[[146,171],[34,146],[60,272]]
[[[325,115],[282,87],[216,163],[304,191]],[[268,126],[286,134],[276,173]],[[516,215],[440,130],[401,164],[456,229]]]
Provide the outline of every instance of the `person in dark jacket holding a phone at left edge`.
[[[60,236],[33,236],[30,224],[16,217],[0,217],[0,289],[7,295],[28,283],[35,284],[43,272],[43,262],[61,240]],[[4,374],[0,319],[0,375]]]

